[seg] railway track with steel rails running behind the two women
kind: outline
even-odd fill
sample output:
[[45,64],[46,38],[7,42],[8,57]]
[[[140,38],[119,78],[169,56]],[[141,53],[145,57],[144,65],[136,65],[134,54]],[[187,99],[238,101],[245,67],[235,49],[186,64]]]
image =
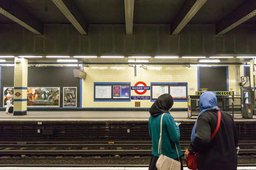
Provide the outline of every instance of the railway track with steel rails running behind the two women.
[[[180,146],[184,153],[189,141]],[[0,142],[0,155],[151,154],[151,147],[151,141]],[[256,153],[256,141],[239,141],[239,147],[239,154]]]

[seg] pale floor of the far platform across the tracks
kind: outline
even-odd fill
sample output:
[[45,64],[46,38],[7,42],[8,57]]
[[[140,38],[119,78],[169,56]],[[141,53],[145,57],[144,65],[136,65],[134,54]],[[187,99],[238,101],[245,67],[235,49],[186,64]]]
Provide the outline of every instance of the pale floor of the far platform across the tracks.
[[[174,119],[195,120],[197,116],[187,118],[188,113],[170,112]],[[13,113],[6,114],[0,112],[0,121],[3,119],[140,119],[148,120],[150,113],[148,111],[28,111],[24,116],[13,116]],[[253,116],[256,121],[256,116]],[[241,114],[234,114],[234,120],[248,120],[242,118]]]

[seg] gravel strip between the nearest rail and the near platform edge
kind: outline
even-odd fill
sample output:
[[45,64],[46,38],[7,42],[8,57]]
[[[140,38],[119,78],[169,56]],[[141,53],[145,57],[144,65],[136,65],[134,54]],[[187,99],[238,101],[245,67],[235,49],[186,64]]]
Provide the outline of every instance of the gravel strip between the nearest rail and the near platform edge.
[[[241,154],[238,156],[238,164],[256,164],[256,155]],[[143,155],[139,159],[134,159],[131,155],[121,155],[121,158],[114,158],[114,155],[104,155],[100,159],[94,156],[84,156],[81,159],[74,159],[73,156],[63,156],[62,159],[56,159],[55,156],[46,156],[44,159],[38,159],[38,156],[12,156],[8,159],[0,159],[0,164],[52,164],[52,165],[148,165],[151,155]],[[184,156],[183,164],[186,164]]]

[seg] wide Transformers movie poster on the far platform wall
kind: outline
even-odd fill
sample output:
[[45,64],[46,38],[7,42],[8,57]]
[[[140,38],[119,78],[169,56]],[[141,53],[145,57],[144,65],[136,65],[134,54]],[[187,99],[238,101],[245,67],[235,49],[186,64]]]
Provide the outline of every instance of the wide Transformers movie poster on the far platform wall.
[[60,107],[60,87],[28,87],[27,107]]

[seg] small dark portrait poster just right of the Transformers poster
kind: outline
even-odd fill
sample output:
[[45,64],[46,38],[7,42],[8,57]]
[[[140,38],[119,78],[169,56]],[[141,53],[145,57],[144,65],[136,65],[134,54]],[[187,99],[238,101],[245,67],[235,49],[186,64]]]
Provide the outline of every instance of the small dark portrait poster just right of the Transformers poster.
[[77,87],[63,87],[63,107],[77,107]]

